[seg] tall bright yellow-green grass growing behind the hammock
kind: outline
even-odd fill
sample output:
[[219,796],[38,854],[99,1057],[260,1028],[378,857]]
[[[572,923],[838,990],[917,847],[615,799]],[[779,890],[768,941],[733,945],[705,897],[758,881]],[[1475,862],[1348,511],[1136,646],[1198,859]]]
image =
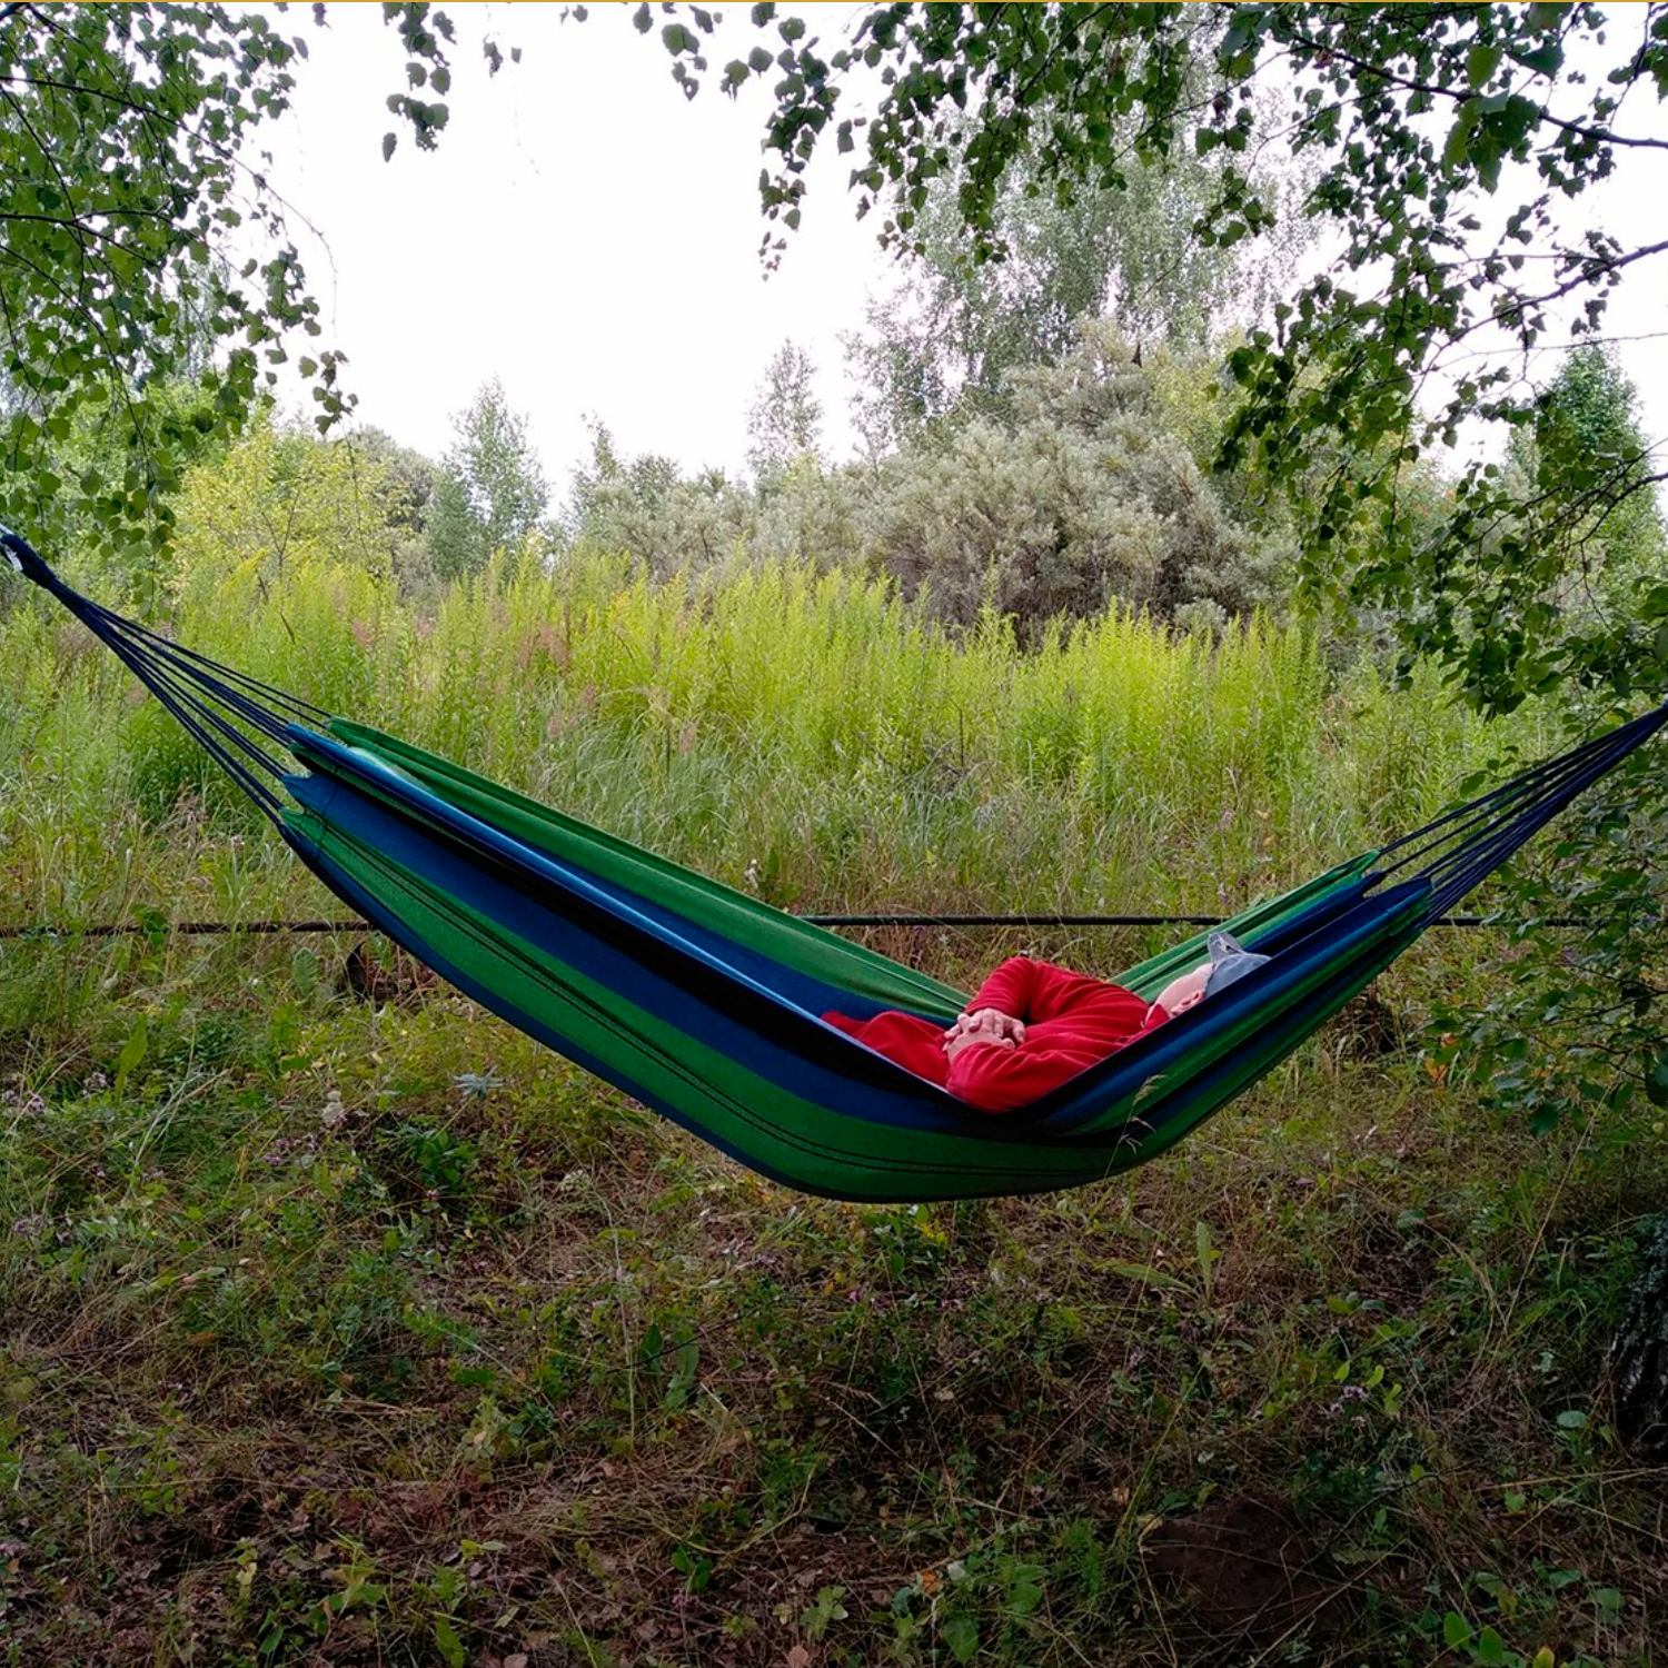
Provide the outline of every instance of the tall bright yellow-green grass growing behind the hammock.
[[[0,622],[17,917],[300,906],[198,749],[45,607]],[[799,907],[1214,909],[1424,819],[1485,751],[1433,677],[1333,679],[1301,627],[1114,612],[1021,651],[809,567],[652,582],[580,552],[429,617],[357,565],[240,567],[193,575],[168,626]]]

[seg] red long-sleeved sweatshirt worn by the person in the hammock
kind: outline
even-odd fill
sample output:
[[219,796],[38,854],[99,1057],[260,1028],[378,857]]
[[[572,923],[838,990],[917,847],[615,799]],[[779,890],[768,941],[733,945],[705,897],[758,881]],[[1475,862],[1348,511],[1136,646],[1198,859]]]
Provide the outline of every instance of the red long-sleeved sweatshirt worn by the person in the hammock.
[[[1149,1017],[1151,1006],[1151,1017]],[[1022,1019],[1017,1048],[971,1042],[954,1061],[944,1053],[944,1027],[916,1014],[884,1012],[874,1019],[822,1017],[859,1042],[937,1083],[986,1113],[1011,1113],[1076,1078],[1108,1054],[1169,1019],[1144,996],[1121,984],[1091,979],[1048,961],[1014,956],[979,986],[967,1012],[994,1007]]]

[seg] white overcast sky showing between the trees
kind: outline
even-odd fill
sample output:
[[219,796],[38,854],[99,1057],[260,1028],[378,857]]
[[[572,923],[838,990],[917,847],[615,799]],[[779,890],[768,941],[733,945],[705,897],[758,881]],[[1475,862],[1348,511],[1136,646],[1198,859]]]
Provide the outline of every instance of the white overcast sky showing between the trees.
[[[320,234],[292,222],[325,342],[349,355],[360,420],[437,457],[452,414],[495,375],[529,419],[557,499],[589,450],[589,414],[627,452],[734,470],[764,365],[792,339],[819,367],[831,449],[846,452],[839,334],[862,324],[867,292],[891,270],[876,222],[856,219],[849,160],[822,147],[806,224],[766,279],[764,87],[731,100],[709,72],[686,102],[659,13],[642,37],[629,5],[592,5],[584,23],[560,23],[555,5],[447,10],[459,32],[450,127],[434,152],[402,128],[389,163],[380,142],[397,123],[384,100],[404,53],[380,7],[332,5],[324,30],[304,8],[290,13],[310,62],[265,143],[274,183]],[[712,70],[759,38],[746,5],[727,10]],[[846,3],[794,10],[824,38],[857,15]],[[489,78],[484,33],[519,45],[520,63]],[[1630,125],[1665,132],[1663,107],[1641,93]],[[1655,240],[1668,168],[1655,157],[1623,163],[1576,207],[1620,222],[1625,239]],[[1633,339],[1621,357],[1646,432],[1668,435],[1668,342],[1656,339],[1668,332],[1668,257],[1635,269],[1606,329]],[[1548,355],[1535,375],[1555,365]]]

